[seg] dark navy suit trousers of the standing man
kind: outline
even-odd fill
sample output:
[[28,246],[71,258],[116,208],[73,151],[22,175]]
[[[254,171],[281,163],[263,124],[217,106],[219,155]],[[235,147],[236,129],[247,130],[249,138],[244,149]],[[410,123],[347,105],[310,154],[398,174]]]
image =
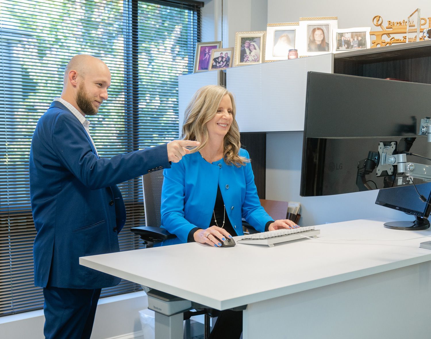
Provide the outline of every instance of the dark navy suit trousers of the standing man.
[[90,339],[100,288],[44,288],[46,339]]

